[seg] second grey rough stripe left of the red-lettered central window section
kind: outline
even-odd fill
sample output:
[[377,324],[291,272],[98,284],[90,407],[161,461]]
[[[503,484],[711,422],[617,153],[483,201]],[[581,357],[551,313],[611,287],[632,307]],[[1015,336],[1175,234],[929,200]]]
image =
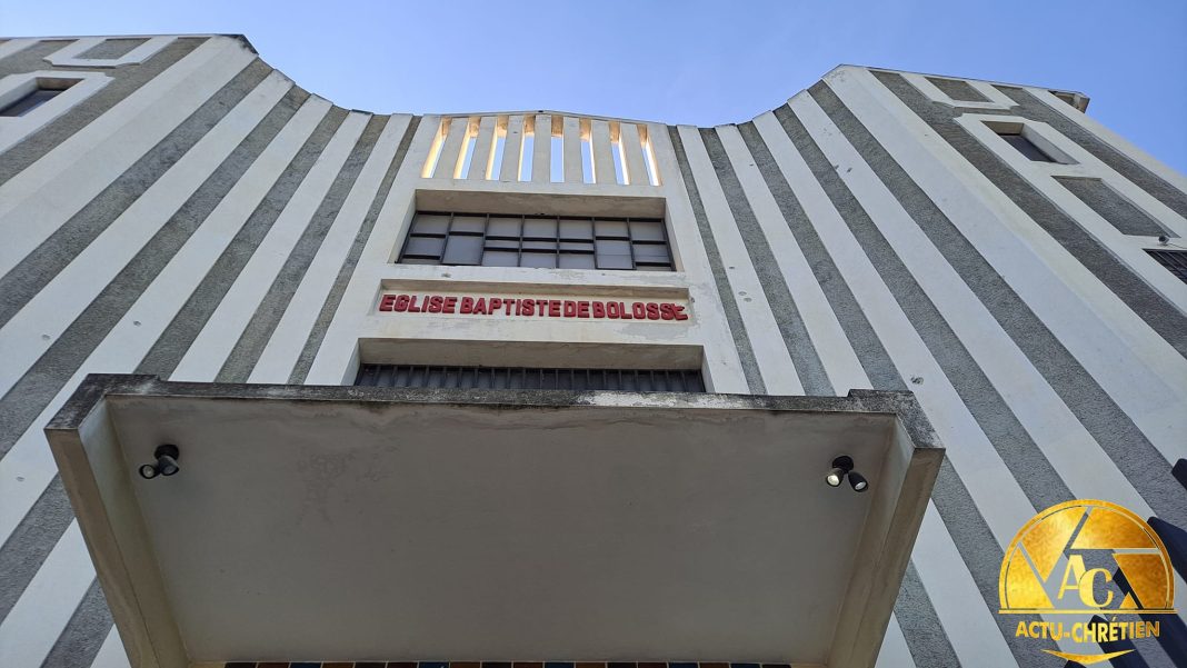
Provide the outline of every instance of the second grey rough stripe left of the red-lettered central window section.
[[280,318],[284,316],[285,308],[288,307],[288,301],[293,298],[293,293],[297,292],[297,287],[305,278],[305,272],[309,271],[310,263],[313,262],[313,257],[322,247],[326,233],[330,231],[330,225],[337,218],[342,203],[350,193],[350,189],[358,178],[358,173],[370,157],[372,151],[375,148],[375,142],[379,141],[380,134],[387,126],[389,117],[373,116],[368,121],[350,157],[347,158],[325,198],[322,199],[317,211],[310,218],[309,225],[297,241],[292,253],[290,253],[285,266],[272,281],[268,293],[260,301],[255,314],[252,316],[252,320],[243,329],[239,342],[235,343],[235,348],[227,357],[227,362],[220,369],[215,378],[216,382],[247,382],[248,376],[252,375],[255,363],[260,360],[260,355],[264,354],[264,349],[268,344],[268,339],[272,338],[277,325],[280,324]]

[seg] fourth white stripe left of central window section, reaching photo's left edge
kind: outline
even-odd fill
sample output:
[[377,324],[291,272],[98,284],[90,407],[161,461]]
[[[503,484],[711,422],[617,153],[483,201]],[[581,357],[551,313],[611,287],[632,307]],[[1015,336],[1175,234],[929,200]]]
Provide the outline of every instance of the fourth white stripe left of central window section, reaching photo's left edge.
[[[57,341],[275,106],[292,82],[273,72],[0,327],[0,394]],[[70,307],[63,307],[69,304]]]

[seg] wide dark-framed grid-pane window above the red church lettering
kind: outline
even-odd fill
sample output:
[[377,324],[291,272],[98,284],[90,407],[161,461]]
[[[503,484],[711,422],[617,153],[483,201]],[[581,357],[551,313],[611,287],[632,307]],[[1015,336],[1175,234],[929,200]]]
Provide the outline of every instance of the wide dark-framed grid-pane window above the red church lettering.
[[399,262],[561,269],[673,271],[661,218],[418,211]]

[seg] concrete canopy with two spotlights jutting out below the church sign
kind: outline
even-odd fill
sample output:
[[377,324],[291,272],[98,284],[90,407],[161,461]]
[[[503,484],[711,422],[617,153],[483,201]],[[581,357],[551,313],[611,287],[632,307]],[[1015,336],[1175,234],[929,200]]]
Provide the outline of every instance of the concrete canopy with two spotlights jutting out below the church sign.
[[[46,433],[134,667],[872,666],[942,448],[907,393],[89,376]],[[164,443],[180,472],[142,479]],[[870,491],[824,482],[849,454]]]

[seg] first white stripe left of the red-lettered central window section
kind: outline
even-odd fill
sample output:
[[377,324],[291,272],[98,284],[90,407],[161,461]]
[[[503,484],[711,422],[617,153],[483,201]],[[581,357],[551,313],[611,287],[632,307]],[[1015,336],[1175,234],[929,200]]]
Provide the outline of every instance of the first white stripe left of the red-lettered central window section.
[[334,224],[325,235],[325,241],[318,248],[317,255],[305,272],[300,286],[293,293],[285,314],[277,325],[277,331],[268,339],[268,345],[260,355],[259,362],[252,369],[248,382],[284,383],[288,381],[305,341],[317,322],[322,304],[334,287],[342,262],[350,253],[358,228],[370,209],[372,199],[379,191],[395,152],[399,148],[404,132],[411,116],[393,116],[388,120],[367,164],[358,173],[358,179],[350,189]]

